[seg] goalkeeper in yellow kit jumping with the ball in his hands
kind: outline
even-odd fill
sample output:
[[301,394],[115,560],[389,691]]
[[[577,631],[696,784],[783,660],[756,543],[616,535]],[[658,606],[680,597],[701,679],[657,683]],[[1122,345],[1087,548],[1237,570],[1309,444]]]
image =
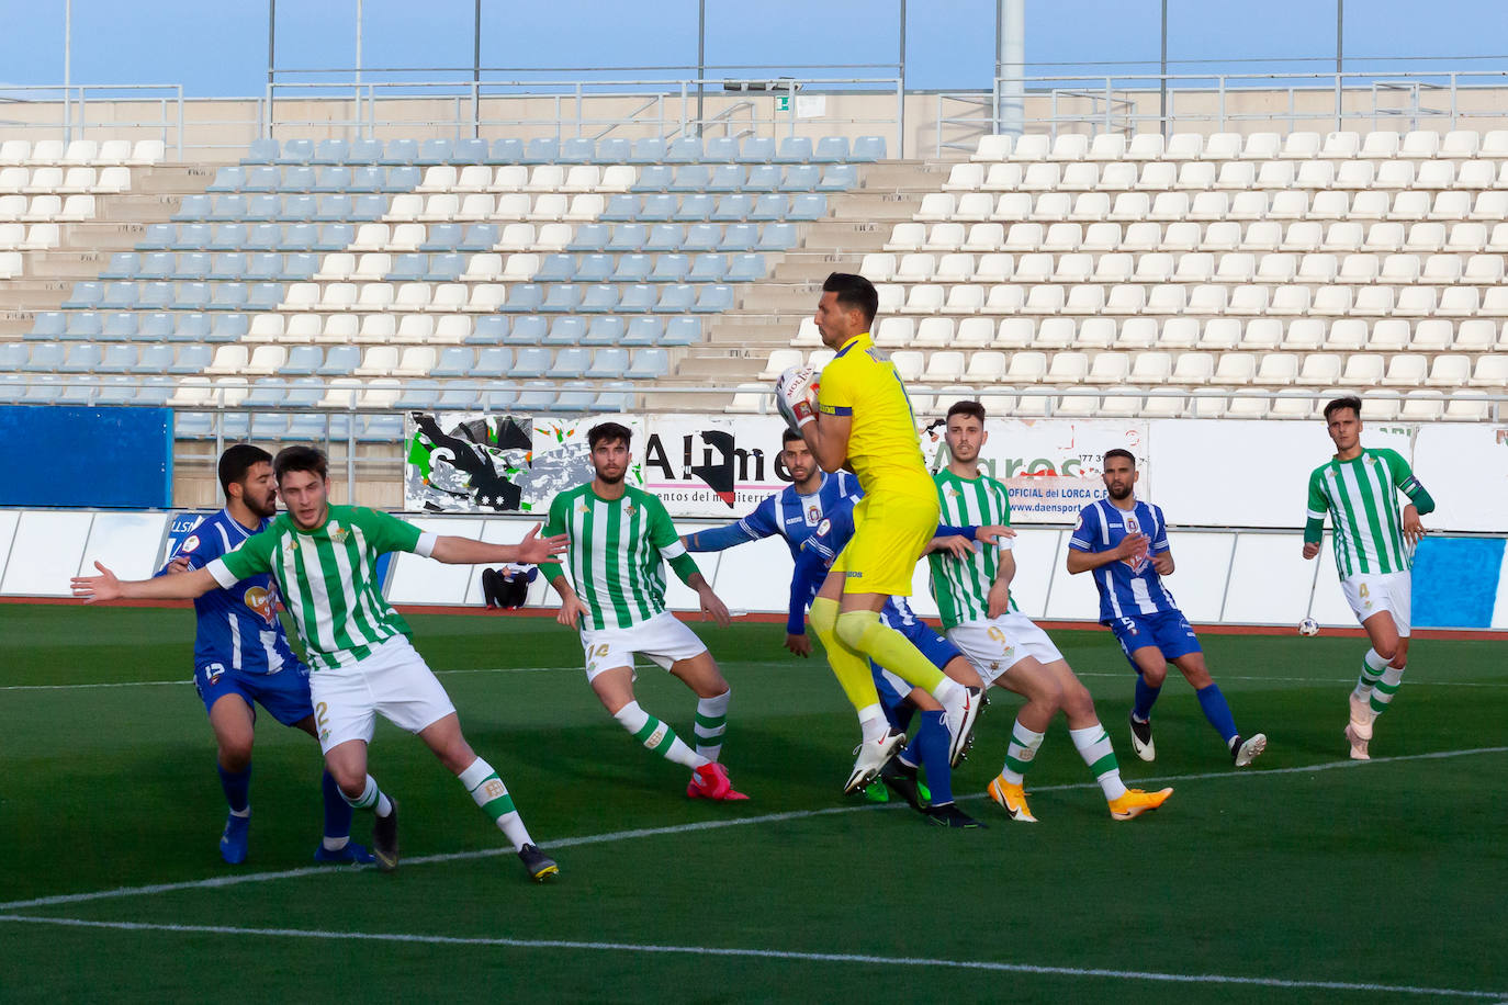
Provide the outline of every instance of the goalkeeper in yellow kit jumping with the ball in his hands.
[[828,276],[816,322],[822,342],[837,356],[823,368],[816,393],[810,372],[787,371],[775,384],[781,411],[822,470],[847,467],[864,490],[854,508],[854,538],[832,564],[810,615],[864,732],[844,791],[867,785],[905,741],[885,720],[870,660],[942,704],[953,764],[968,747],[982,704],[979,689],[944,677],[879,619],[887,598],[911,595],[917,561],[936,533],[938,493],[921,458],[900,374],[869,334],[878,307],[875,285],[863,276]]

